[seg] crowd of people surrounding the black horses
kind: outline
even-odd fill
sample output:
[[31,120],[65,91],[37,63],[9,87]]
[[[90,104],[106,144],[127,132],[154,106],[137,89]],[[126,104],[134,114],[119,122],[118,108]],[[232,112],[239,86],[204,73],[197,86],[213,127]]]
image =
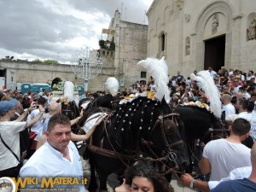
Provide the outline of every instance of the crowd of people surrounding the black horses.
[[[230,129],[230,137],[211,141],[203,150],[199,168],[202,174],[210,174],[209,183],[195,180],[189,174],[183,174],[180,180],[184,186],[201,191],[222,191],[225,186],[232,183],[237,189],[255,191],[256,147],[253,143],[256,140],[256,74],[252,70],[242,73],[238,69],[227,70],[224,67],[218,72],[209,67],[208,72],[218,87],[223,103],[222,119],[226,128]],[[196,73],[194,71],[195,75]],[[211,106],[211,100],[201,89],[200,84],[190,78],[185,79],[179,71],[176,76],[169,79],[167,85],[173,108],[188,102],[201,102]],[[130,89],[119,91],[118,96],[148,96],[154,99],[156,91],[157,85],[154,84],[154,78],[150,77],[148,82],[137,81]],[[86,92],[80,94],[80,98],[96,98],[104,94],[104,91]],[[23,95],[17,90],[0,92],[0,177],[18,177],[19,174],[20,177],[29,177],[34,176],[35,172],[38,177],[83,176],[79,153],[72,141],[89,139],[102,119],[99,119],[85,135],[73,134],[71,125],[82,118],[84,110],[81,110],[78,118],[69,120],[61,115],[61,105],[50,102],[50,98],[51,94],[47,90],[36,93],[29,91]],[[222,146],[221,150],[219,146]],[[239,158],[230,159],[234,155]],[[51,161],[44,158],[50,158]],[[25,159],[27,161],[23,166],[22,161]],[[139,165],[132,166],[132,169],[126,171],[125,183],[115,191],[173,190],[153,167],[142,163]],[[221,179],[228,177],[230,172],[241,167],[250,167],[245,174],[248,179],[222,182],[213,189],[218,181],[222,181]],[[79,186],[79,189],[85,190],[84,186]]]

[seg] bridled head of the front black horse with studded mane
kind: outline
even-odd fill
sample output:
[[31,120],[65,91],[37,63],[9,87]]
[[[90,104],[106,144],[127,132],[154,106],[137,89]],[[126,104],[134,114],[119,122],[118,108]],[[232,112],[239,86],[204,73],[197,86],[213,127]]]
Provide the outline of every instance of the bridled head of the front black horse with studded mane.
[[154,126],[151,132],[153,147],[160,150],[161,156],[166,156],[166,166],[185,170],[189,166],[189,155],[183,122],[164,98],[160,102],[160,114]]

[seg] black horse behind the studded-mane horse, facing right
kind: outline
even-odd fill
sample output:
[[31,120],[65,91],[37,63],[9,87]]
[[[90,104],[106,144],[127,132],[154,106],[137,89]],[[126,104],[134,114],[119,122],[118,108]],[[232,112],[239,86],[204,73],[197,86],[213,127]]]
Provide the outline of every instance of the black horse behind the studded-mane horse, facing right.
[[221,120],[213,113],[207,111],[206,108],[178,106],[175,108],[175,111],[180,114],[180,119],[183,121],[186,131],[190,157],[189,169],[187,171],[199,173],[197,172],[197,165],[201,159],[202,143],[225,137],[227,130],[224,130]]

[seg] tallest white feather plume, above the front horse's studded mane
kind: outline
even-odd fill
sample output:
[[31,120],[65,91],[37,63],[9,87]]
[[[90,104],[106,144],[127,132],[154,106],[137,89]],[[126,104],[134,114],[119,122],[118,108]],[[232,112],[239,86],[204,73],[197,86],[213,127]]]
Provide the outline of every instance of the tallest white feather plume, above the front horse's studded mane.
[[139,61],[137,65],[144,67],[154,77],[154,84],[157,85],[155,97],[158,100],[162,100],[165,96],[166,102],[169,103],[170,90],[168,89],[168,67],[166,65],[165,57],[160,60],[155,58],[147,58],[146,60]]

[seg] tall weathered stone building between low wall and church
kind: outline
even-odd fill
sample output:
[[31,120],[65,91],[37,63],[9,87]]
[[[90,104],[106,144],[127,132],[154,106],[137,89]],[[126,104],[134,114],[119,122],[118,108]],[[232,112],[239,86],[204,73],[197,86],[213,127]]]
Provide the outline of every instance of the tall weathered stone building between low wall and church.
[[147,57],[148,26],[121,20],[118,10],[115,11],[108,29],[108,41],[115,44],[114,76],[119,79],[120,89],[129,88],[137,80],[146,81],[147,72],[137,67],[137,62]]

